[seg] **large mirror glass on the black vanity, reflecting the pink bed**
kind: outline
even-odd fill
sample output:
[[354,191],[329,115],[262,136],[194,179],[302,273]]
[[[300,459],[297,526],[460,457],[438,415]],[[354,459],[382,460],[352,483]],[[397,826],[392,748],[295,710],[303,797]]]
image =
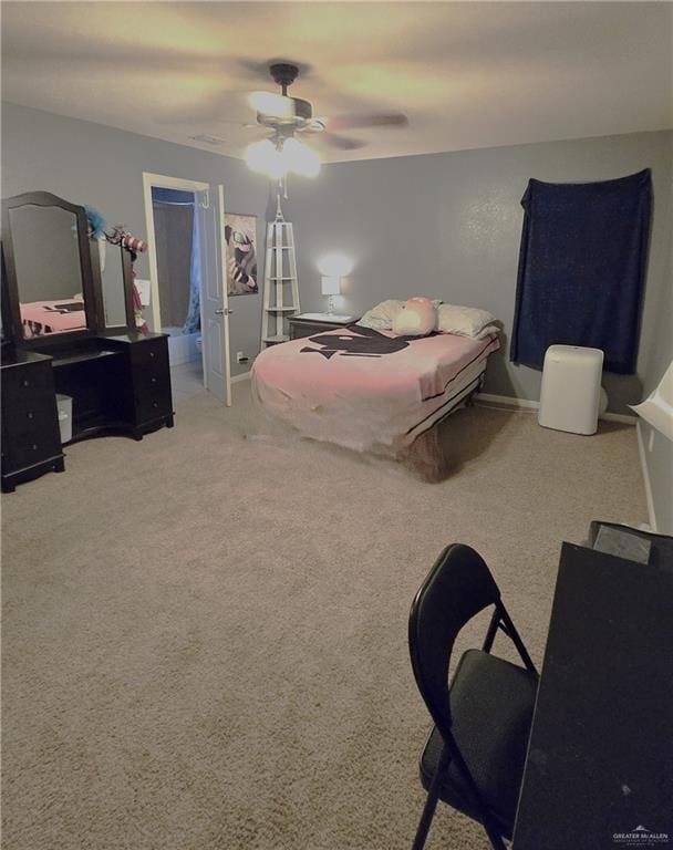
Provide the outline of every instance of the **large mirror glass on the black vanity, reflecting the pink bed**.
[[24,339],[86,329],[77,218],[61,207],[9,210]]

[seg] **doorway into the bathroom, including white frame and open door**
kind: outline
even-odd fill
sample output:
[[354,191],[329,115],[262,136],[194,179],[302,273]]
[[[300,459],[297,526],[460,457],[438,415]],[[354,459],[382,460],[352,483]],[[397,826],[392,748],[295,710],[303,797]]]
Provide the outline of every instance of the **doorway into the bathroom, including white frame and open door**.
[[221,281],[218,225],[210,187],[196,180],[143,174],[149,243],[148,325],[168,335],[176,403],[209,390],[231,403],[229,326]]

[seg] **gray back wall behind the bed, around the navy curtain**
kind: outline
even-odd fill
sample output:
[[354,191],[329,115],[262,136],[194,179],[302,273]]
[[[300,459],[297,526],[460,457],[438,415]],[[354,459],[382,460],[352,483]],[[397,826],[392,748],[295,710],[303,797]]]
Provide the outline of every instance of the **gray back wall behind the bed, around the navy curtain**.
[[493,359],[486,392],[537,401],[540,373],[507,360],[528,179],[602,180],[651,167],[655,212],[638,375],[605,374],[603,381],[610,410],[627,413],[625,404],[642,396],[651,363],[662,356],[649,341],[666,323],[661,301],[670,286],[664,252],[672,138],[671,132],[636,133],[344,163],[323,168],[312,183],[296,179],[288,212],[302,309],[325,309],[317,260],[343,251],[355,261],[343,311],[361,313],[384,298],[412,294],[485,308],[504,321],[507,338]]

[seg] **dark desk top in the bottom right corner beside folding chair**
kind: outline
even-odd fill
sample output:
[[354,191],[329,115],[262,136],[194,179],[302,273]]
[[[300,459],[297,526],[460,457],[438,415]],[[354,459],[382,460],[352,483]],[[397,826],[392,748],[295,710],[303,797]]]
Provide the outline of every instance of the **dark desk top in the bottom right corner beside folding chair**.
[[673,568],[563,543],[514,850],[623,847],[673,850]]

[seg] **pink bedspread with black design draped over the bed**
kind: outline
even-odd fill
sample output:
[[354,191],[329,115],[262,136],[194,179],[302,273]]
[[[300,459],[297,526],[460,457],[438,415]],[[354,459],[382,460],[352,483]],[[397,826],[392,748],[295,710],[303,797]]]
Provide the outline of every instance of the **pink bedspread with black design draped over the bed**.
[[252,391],[303,436],[395,455],[474,386],[497,339],[421,339],[364,328],[328,331],[262,351]]

